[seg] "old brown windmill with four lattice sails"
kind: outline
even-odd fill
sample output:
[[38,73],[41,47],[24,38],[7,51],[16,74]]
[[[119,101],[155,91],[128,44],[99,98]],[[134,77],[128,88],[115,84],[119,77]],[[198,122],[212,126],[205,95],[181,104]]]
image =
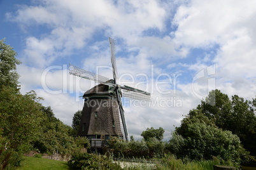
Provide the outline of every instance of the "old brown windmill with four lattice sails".
[[94,74],[69,64],[69,74],[99,83],[83,95],[85,99],[80,121],[79,136],[89,140],[109,140],[110,136],[119,136],[129,141],[125,122],[122,97],[150,101],[150,93],[129,86],[120,86],[118,82],[115,57],[115,40],[109,37],[113,79]]

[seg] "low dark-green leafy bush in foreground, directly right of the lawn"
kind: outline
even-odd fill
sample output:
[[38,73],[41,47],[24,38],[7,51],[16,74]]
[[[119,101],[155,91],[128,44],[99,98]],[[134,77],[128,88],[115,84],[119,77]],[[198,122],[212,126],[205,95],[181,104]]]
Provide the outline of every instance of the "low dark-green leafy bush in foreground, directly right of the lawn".
[[73,152],[68,164],[73,169],[122,169],[119,164],[105,155],[88,154],[86,152]]

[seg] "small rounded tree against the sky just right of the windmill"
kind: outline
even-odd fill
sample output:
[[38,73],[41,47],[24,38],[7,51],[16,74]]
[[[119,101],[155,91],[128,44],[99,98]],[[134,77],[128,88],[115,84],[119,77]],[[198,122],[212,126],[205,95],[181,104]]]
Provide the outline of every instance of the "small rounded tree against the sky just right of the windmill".
[[161,141],[164,138],[164,129],[161,127],[159,129],[154,129],[153,127],[146,128],[146,131],[143,131],[141,136],[143,136],[145,141],[150,141],[152,138]]

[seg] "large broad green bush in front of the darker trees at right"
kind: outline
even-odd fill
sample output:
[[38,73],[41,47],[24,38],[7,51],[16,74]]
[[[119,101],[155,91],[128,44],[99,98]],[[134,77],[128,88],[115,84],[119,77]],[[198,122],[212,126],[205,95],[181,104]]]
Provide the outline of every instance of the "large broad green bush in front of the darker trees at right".
[[[195,111],[195,110],[194,110]],[[239,165],[240,141],[231,131],[222,131],[200,112],[183,119],[170,140],[169,149],[179,158],[210,160],[213,156],[224,162]]]

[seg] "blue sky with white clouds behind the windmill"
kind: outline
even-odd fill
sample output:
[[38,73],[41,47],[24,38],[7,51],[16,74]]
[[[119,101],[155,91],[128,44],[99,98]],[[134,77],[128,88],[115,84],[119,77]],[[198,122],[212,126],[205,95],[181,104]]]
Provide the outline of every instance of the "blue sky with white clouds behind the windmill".
[[36,91],[69,126],[97,84],[69,75],[68,64],[113,79],[115,39],[118,83],[152,96],[122,99],[129,135],[162,127],[169,140],[211,89],[255,98],[255,16],[255,0],[0,0],[0,39],[22,62],[22,93]]

